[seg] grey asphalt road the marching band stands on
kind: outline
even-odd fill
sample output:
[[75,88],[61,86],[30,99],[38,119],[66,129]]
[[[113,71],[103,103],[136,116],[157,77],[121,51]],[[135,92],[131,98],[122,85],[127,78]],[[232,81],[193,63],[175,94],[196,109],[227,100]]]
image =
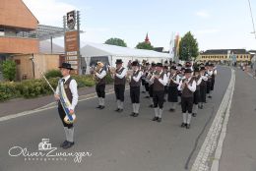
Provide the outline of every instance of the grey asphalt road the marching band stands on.
[[[0,122],[0,171],[186,170],[185,165],[191,167],[205,139],[229,80],[230,69],[219,67],[214,97],[208,99],[205,108],[199,110],[196,118],[192,118],[190,130],[180,128],[182,119],[180,106],[175,113],[170,113],[168,103],[164,103],[162,122],[151,121],[154,109],[148,107],[149,99],[144,98],[144,94],[141,97],[140,116],[130,117],[132,106],[129,90],[125,93],[125,109],[121,114],[114,112],[116,105],[113,94],[106,96],[107,107],[103,110],[96,109],[96,98],[80,102],[77,107],[79,119],[75,126],[76,144],[68,150],[59,148],[59,144],[64,141],[64,131],[56,109]],[[211,121],[204,130],[209,119]],[[202,131],[204,132],[196,150],[191,154]],[[29,160],[29,157],[22,155],[14,157],[8,153],[13,146],[27,147],[29,151],[36,152],[41,139],[49,139],[51,145],[57,147],[58,152],[88,151],[92,156],[83,157],[81,163],[75,163],[74,157],[67,157],[67,160],[61,160],[59,157],[58,161],[49,160],[50,157],[30,157]],[[47,160],[40,161],[40,158]]]

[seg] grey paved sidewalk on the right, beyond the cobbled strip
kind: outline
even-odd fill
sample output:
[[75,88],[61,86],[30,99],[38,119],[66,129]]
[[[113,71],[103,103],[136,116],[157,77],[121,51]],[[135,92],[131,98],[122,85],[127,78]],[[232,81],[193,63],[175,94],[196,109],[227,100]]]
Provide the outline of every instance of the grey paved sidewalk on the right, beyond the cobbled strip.
[[256,81],[236,69],[220,171],[256,170]]

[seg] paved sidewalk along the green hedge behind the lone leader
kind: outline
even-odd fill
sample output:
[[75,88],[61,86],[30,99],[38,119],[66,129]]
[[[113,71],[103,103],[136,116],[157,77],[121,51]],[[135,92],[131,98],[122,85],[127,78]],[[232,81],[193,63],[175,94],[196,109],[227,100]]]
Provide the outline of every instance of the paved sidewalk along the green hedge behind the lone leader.
[[[106,85],[106,91],[112,89],[113,85]],[[83,87],[79,89],[79,96],[91,94],[96,92],[96,87]],[[0,117],[16,114],[28,110],[33,110],[42,106],[45,106],[49,103],[54,102],[53,95],[47,95],[37,98],[25,99],[25,98],[16,98],[9,101],[0,103]]]

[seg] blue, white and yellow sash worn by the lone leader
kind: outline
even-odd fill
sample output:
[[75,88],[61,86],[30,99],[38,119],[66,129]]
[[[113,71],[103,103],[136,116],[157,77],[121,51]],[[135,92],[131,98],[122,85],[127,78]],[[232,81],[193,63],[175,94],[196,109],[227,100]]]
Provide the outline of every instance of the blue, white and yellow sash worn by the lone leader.
[[58,86],[59,86],[60,104],[66,114],[64,118],[64,122],[66,124],[73,124],[76,119],[76,115],[75,113],[72,115],[69,113],[69,108],[71,107],[71,103],[67,97],[67,94],[64,88],[64,83],[62,82],[62,80],[59,81]]

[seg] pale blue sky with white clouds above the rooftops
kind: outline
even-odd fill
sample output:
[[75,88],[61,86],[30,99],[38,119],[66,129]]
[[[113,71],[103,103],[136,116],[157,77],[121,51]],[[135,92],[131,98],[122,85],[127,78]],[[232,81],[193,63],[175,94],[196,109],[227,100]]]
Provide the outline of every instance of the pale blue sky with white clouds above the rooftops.
[[[215,48],[256,49],[247,0],[24,0],[42,25],[62,26],[62,16],[81,11],[83,42],[104,42],[120,37],[129,47],[149,32],[154,46],[166,50],[172,32],[191,30],[200,50]],[[256,2],[251,0],[253,15]],[[255,19],[256,20],[256,19]],[[62,39],[55,39],[61,43]],[[83,44],[83,43],[82,43]]]

